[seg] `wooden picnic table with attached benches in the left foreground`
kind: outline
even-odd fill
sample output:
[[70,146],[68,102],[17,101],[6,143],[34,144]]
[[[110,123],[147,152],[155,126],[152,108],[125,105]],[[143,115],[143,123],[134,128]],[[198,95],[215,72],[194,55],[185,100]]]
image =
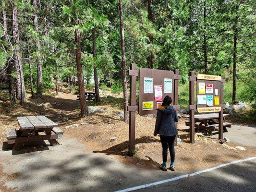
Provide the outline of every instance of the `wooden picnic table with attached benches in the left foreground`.
[[48,140],[51,145],[59,144],[56,139],[63,137],[58,124],[41,116],[17,117],[20,129],[7,130],[7,143],[15,144],[12,150],[20,148],[24,143]]

